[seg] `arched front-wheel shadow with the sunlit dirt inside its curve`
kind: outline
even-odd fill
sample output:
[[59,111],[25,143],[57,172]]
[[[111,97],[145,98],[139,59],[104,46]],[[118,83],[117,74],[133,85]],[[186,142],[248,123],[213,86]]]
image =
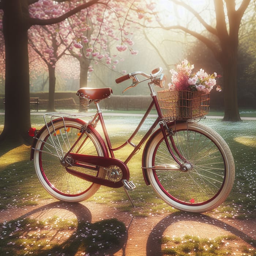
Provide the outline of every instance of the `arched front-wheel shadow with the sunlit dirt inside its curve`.
[[228,233],[241,238],[248,246],[256,248],[256,240],[234,226],[204,214],[176,212],[163,218],[154,226],[147,240],[147,255],[161,255],[162,248],[159,240],[163,236],[182,238],[184,235],[191,235],[210,239]]

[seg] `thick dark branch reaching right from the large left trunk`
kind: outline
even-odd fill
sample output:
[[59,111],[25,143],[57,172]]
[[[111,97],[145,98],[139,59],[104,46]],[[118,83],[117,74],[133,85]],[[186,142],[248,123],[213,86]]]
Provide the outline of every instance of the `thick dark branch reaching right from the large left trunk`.
[[29,18],[29,23],[30,23],[30,26],[33,26],[33,25],[41,25],[41,26],[44,26],[44,25],[52,25],[52,24],[56,24],[56,23],[59,23],[65,19],[67,19],[68,17],[76,14],[77,12],[83,10],[83,9],[86,9],[88,7],[90,7],[91,5],[93,4],[96,4],[98,3],[99,0],[91,0],[89,1],[88,3],[84,3],[84,4],[81,4],[77,7],[75,7],[74,9],[66,12],[65,14],[57,17],[57,18],[52,18],[52,19],[35,19],[35,18]]

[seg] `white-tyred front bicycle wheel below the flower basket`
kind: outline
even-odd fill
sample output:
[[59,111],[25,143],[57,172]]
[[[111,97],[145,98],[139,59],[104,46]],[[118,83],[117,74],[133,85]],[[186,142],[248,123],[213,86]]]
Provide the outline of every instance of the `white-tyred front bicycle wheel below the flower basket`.
[[181,211],[206,212],[218,207],[234,183],[229,147],[217,132],[199,123],[177,123],[171,128],[180,153],[175,155],[188,168],[182,170],[174,161],[159,131],[150,139],[143,159],[150,184],[167,204]]

